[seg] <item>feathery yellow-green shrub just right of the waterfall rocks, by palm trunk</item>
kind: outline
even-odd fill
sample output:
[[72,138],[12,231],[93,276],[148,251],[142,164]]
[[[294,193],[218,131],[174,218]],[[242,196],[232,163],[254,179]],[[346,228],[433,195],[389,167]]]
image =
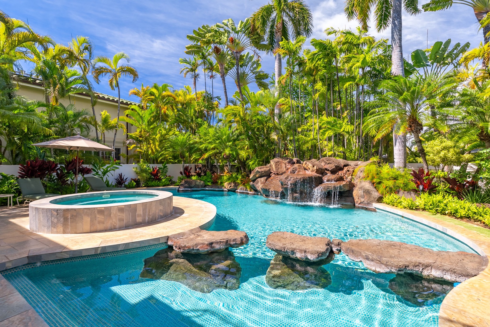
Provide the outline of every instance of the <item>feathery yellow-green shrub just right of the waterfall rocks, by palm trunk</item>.
[[378,192],[385,196],[398,190],[410,191],[415,188],[410,170],[403,172],[391,168],[388,163],[369,163],[364,169],[364,179],[371,181]]

